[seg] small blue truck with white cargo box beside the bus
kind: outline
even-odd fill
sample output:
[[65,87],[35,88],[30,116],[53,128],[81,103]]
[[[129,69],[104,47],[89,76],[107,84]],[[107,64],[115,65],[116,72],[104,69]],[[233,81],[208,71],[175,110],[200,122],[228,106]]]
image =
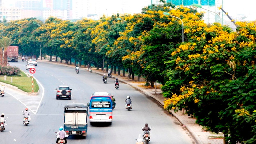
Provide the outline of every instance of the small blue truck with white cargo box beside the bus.
[[87,135],[88,107],[83,103],[71,103],[64,107],[64,131],[67,135]]

